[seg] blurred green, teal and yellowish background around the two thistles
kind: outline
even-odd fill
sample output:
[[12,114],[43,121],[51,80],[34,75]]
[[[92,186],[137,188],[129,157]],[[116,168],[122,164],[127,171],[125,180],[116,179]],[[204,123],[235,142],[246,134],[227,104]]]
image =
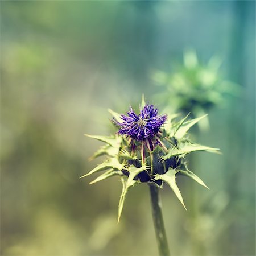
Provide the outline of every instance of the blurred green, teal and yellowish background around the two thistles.
[[[220,73],[240,98],[209,113],[196,141],[196,225],[164,187],[172,255],[255,255],[255,2],[2,1],[1,255],[157,255],[146,185],[131,189],[121,223],[118,177],[79,177],[102,159],[84,133],[112,133],[112,108],[125,112],[142,93],[155,102],[151,71],[170,71],[183,50]],[[171,96],[170,96],[171,97]],[[96,175],[95,175],[96,176]],[[185,204],[191,180],[177,180]]]

